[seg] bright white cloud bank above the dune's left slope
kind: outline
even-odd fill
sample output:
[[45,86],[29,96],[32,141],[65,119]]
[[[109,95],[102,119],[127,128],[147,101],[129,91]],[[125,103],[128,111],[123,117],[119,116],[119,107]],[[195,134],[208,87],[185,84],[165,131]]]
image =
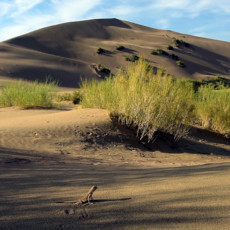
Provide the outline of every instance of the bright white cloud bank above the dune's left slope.
[[10,26],[1,26],[1,40],[7,40],[49,25],[87,18],[87,13],[101,2],[101,0],[95,0],[93,3],[92,0],[65,0],[64,2],[63,0],[51,0],[53,4],[50,5],[51,8],[46,13],[39,10],[36,11],[36,14],[31,13],[30,9],[42,1],[15,0],[14,4],[7,6],[7,13],[11,13],[13,21]]

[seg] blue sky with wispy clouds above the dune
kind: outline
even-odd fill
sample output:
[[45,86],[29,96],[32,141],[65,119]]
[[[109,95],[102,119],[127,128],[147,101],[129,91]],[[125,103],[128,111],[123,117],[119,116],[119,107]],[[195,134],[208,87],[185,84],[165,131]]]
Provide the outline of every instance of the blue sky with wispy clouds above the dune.
[[118,18],[230,42],[230,0],[0,0],[0,41],[93,18]]

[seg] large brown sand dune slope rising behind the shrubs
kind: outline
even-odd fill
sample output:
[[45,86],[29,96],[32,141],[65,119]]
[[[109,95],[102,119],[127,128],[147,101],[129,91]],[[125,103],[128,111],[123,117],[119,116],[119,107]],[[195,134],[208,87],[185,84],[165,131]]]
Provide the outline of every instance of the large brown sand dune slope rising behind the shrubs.
[[[150,54],[156,48],[167,50],[168,45],[173,45],[173,37],[190,44],[167,51],[179,56],[186,68],[178,67],[169,57]],[[117,51],[119,45],[126,49]],[[106,52],[97,54],[98,47]],[[156,30],[118,19],[55,25],[0,43],[0,76],[32,80],[51,75],[62,86],[77,87],[81,77],[100,77],[93,68],[96,63],[115,73],[127,65],[124,58],[133,53],[178,77],[230,77],[229,42]]]

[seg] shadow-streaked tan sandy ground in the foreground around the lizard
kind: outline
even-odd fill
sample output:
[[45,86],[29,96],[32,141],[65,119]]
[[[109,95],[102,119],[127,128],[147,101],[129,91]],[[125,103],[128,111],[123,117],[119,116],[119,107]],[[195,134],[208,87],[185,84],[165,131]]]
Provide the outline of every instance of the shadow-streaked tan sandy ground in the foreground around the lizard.
[[[0,122],[0,229],[229,229],[229,140],[196,129],[149,146],[98,109],[4,108]],[[57,203],[95,184],[75,214]]]

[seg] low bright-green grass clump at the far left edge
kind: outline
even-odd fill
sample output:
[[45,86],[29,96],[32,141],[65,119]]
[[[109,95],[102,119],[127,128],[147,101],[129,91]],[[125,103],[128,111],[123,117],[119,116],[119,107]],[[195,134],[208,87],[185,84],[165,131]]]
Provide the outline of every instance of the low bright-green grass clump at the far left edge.
[[0,93],[0,106],[20,106],[23,108],[52,108],[57,84],[19,80],[9,83]]

